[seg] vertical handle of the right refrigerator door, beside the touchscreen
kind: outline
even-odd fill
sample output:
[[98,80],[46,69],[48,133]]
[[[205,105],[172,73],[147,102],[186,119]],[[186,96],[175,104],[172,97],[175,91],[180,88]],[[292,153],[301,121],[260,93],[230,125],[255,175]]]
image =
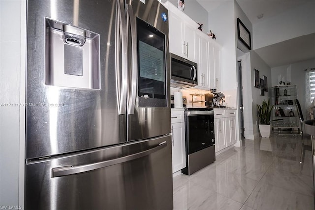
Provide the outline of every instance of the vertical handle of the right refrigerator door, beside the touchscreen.
[[[127,33],[129,31],[129,23],[131,28],[131,46],[132,46],[132,74],[131,74],[131,84],[129,84],[128,90],[128,114],[134,114],[134,107],[136,103],[136,91],[137,91],[137,73],[138,73],[138,58],[137,58],[137,32],[136,25],[134,21],[134,14],[132,10],[132,5],[128,4],[127,7]],[[129,35],[127,34],[127,37]],[[128,80],[129,82],[130,80]]]

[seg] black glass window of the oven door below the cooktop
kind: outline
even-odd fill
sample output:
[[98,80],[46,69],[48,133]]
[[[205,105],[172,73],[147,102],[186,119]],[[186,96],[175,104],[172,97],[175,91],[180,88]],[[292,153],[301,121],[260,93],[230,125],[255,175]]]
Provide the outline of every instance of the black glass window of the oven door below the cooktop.
[[188,117],[188,154],[197,152],[214,144],[213,115]]

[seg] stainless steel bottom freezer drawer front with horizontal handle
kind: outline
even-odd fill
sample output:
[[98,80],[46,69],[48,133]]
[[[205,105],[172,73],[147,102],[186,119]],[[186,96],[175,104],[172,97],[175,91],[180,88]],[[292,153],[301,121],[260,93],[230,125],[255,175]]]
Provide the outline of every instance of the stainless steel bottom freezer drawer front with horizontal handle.
[[25,209],[171,210],[171,137],[26,163]]

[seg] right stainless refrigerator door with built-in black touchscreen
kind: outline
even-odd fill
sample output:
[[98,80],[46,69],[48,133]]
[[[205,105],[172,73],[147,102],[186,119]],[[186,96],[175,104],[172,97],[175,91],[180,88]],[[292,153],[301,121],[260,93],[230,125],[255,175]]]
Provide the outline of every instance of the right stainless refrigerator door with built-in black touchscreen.
[[[128,141],[168,134],[170,55],[168,10],[157,0],[127,1]],[[131,63],[131,64],[130,64]]]

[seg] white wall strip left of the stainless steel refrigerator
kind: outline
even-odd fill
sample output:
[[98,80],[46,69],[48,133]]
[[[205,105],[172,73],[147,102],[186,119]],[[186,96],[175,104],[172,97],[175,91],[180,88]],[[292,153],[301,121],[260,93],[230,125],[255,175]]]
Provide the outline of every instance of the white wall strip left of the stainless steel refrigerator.
[[[22,145],[20,141],[24,118],[20,120],[21,109],[12,104],[20,104],[20,80],[25,75],[20,70],[21,23],[26,19],[21,18],[21,9],[25,5],[21,0],[0,0],[0,205],[4,206],[23,207],[24,203],[24,141]],[[25,32],[22,34],[25,39]],[[25,51],[22,60],[24,57]]]

